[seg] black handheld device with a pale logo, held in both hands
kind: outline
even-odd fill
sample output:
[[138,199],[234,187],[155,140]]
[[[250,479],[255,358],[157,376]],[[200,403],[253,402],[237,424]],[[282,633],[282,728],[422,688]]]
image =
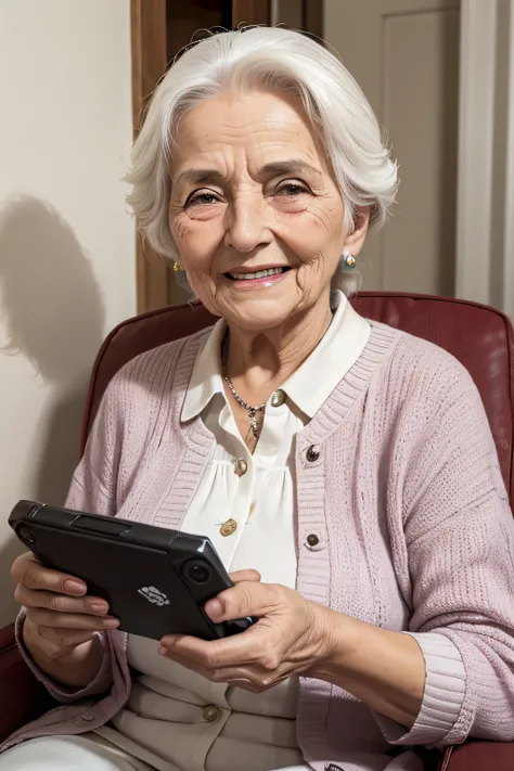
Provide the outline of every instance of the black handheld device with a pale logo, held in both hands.
[[106,600],[126,632],[215,640],[254,621],[214,624],[205,613],[207,600],[233,586],[208,538],[35,501],[20,501],[9,524],[42,565]]

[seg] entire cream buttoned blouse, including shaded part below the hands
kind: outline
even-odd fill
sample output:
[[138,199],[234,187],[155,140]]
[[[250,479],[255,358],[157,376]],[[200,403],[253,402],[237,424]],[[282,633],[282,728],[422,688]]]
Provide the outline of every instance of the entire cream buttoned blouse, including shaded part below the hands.
[[[201,415],[217,447],[181,529],[208,536],[227,570],[254,568],[267,583],[295,587],[296,434],[355,363],[370,331],[369,322],[337,293],[323,339],[268,400],[252,454],[223,388],[226,322],[214,326],[196,357],[181,419]],[[127,708],[112,727],[99,729],[105,738],[158,769],[240,771],[242,751],[248,771],[309,768],[296,742],[297,678],[252,694],[210,683],[156,651],[156,642],[129,637],[129,664],[142,674]]]

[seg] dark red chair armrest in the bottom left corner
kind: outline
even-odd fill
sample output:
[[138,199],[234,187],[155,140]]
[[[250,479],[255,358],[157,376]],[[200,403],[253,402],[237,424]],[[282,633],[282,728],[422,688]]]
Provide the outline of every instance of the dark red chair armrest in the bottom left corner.
[[47,690],[22,658],[14,626],[0,630],[0,742],[52,704]]

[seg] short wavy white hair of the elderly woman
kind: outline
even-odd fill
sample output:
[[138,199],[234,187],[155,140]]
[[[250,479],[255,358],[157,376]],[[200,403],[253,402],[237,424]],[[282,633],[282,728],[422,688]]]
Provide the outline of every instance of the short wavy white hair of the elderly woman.
[[[159,254],[178,259],[168,222],[169,157],[180,116],[203,99],[256,87],[295,91],[326,152],[346,227],[359,209],[381,227],[397,190],[397,166],[356,80],[330,51],[301,33],[246,27],[213,34],[188,47],[157,86],[130,155],[127,203]],[[354,274],[352,274],[354,275]],[[342,279],[342,280],[340,280]],[[347,274],[336,283],[348,293]]]

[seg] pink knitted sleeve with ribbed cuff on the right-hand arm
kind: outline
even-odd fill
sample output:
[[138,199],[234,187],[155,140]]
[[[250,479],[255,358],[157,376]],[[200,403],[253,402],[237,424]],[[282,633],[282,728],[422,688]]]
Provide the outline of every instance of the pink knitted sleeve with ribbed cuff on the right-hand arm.
[[514,519],[470,374],[442,351],[422,369],[397,460],[425,692],[408,733],[377,720],[393,744],[513,741]]

